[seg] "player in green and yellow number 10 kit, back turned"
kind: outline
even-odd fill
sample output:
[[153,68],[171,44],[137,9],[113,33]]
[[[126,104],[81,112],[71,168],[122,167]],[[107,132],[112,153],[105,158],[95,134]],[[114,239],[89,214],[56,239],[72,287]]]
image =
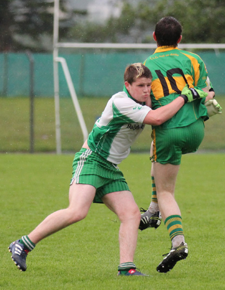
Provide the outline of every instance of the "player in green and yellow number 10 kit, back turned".
[[[177,48],[182,27],[174,17],[161,18],[153,32],[157,48],[144,64],[151,70],[152,109],[163,107],[180,95],[184,85],[206,91],[207,70],[194,53]],[[147,211],[141,214],[139,228],[157,227],[160,213],[171,239],[171,251],[158,264],[157,271],[167,272],[188,254],[182,230],[181,213],[174,198],[175,180],[181,155],[195,152],[204,136],[204,120],[208,118],[205,101],[214,97],[211,86],[206,98],[184,105],[161,125],[152,126],[151,148],[152,198]],[[216,113],[221,112],[218,105]],[[160,210],[160,212],[159,212]]]

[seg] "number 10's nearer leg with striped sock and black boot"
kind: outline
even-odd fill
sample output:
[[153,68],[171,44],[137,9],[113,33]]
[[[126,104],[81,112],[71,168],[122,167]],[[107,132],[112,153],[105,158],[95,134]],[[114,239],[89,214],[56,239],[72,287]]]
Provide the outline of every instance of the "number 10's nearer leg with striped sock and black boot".
[[158,205],[172,242],[172,249],[156,267],[158,272],[163,273],[170,271],[177,261],[185,259],[188,254],[182,230],[181,214],[174,198],[178,170],[179,165],[154,163]]

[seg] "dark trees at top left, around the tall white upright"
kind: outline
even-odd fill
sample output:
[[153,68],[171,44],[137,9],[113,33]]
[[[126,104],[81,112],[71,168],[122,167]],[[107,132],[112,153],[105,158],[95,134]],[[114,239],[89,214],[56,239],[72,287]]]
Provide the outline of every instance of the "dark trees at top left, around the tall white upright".
[[[52,48],[53,0],[2,0],[0,1],[0,50],[30,49],[44,51]],[[66,8],[60,0],[59,37],[65,37],[74,24],[75,11]]]

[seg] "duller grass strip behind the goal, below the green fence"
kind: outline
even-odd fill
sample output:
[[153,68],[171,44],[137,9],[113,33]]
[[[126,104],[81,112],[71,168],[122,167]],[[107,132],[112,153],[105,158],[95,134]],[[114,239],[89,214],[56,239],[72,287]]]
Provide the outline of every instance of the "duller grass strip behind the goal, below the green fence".
[[[225,109],[225,97],[216,96]],[[88,131],[101,114],[107,98],[79,99]],[[0,152],[29,151],[29,98],[0,97]],[[61,144],[64,152],[78,151],[83,143],[82,132],[70,98],[60,99]],[[205,137],[201,150],[225,150],[225,114],[215,115],[205,122]],[[148,151],[151,126],[133,144],[132,151]],[[34,101],[34,151],[55,151],[54,99],[35,98]]]

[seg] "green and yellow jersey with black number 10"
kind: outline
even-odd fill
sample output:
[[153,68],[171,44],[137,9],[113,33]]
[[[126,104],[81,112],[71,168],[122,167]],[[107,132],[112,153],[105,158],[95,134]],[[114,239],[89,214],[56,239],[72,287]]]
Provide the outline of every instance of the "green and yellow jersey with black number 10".
[[[174,46],[159,46],[144,62],[151,73],[152,109],[170,103],[180,95],[187,83],[189,87],[206,86],[207,70],[202,59],[194,53]],[[161,128],[175,128],[191,124],[198,118],[207,118],[205,98],[186,103]]]

